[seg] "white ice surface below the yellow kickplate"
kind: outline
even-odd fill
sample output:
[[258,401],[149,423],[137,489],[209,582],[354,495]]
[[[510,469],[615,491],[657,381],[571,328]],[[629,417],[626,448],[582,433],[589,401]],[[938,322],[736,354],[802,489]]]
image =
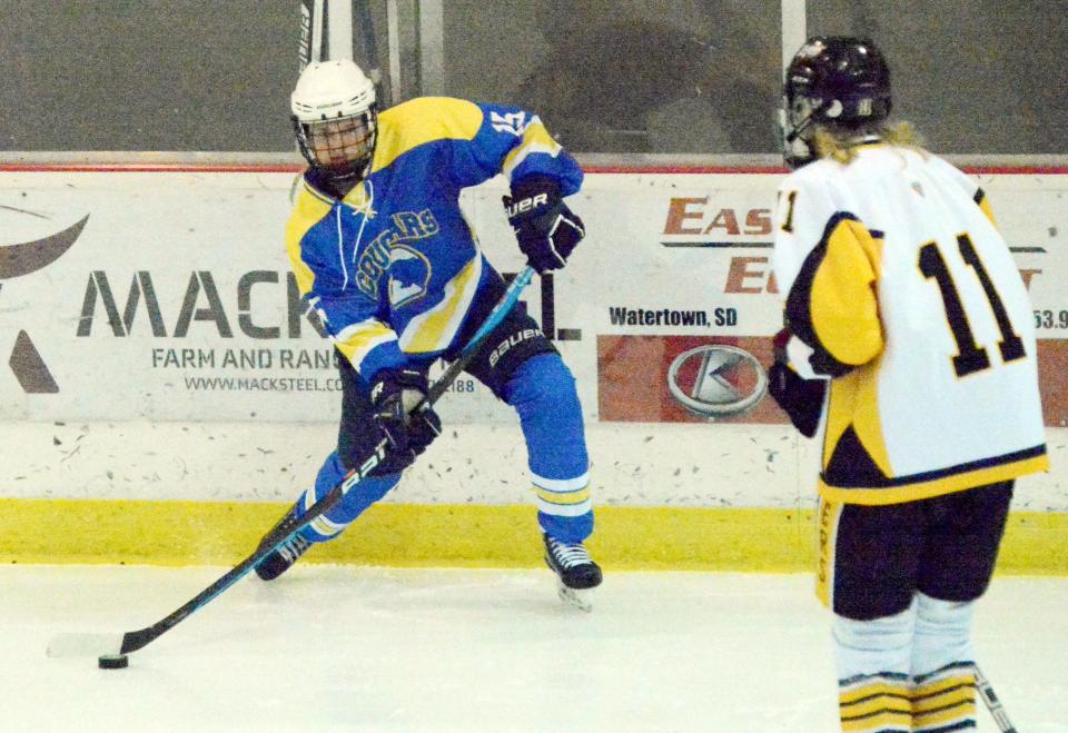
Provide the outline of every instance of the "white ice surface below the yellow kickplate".
[[[226,569],[0,567],[0,730],[838,730],[808,575],[610,573],[584,614],[547,571],[297,566],[126,670],[44,656],[59,633],[148,626]],[[999,577],[979,606],[981,664],[1025,733],[1068,731],[1066,610],[1065,578]]]

